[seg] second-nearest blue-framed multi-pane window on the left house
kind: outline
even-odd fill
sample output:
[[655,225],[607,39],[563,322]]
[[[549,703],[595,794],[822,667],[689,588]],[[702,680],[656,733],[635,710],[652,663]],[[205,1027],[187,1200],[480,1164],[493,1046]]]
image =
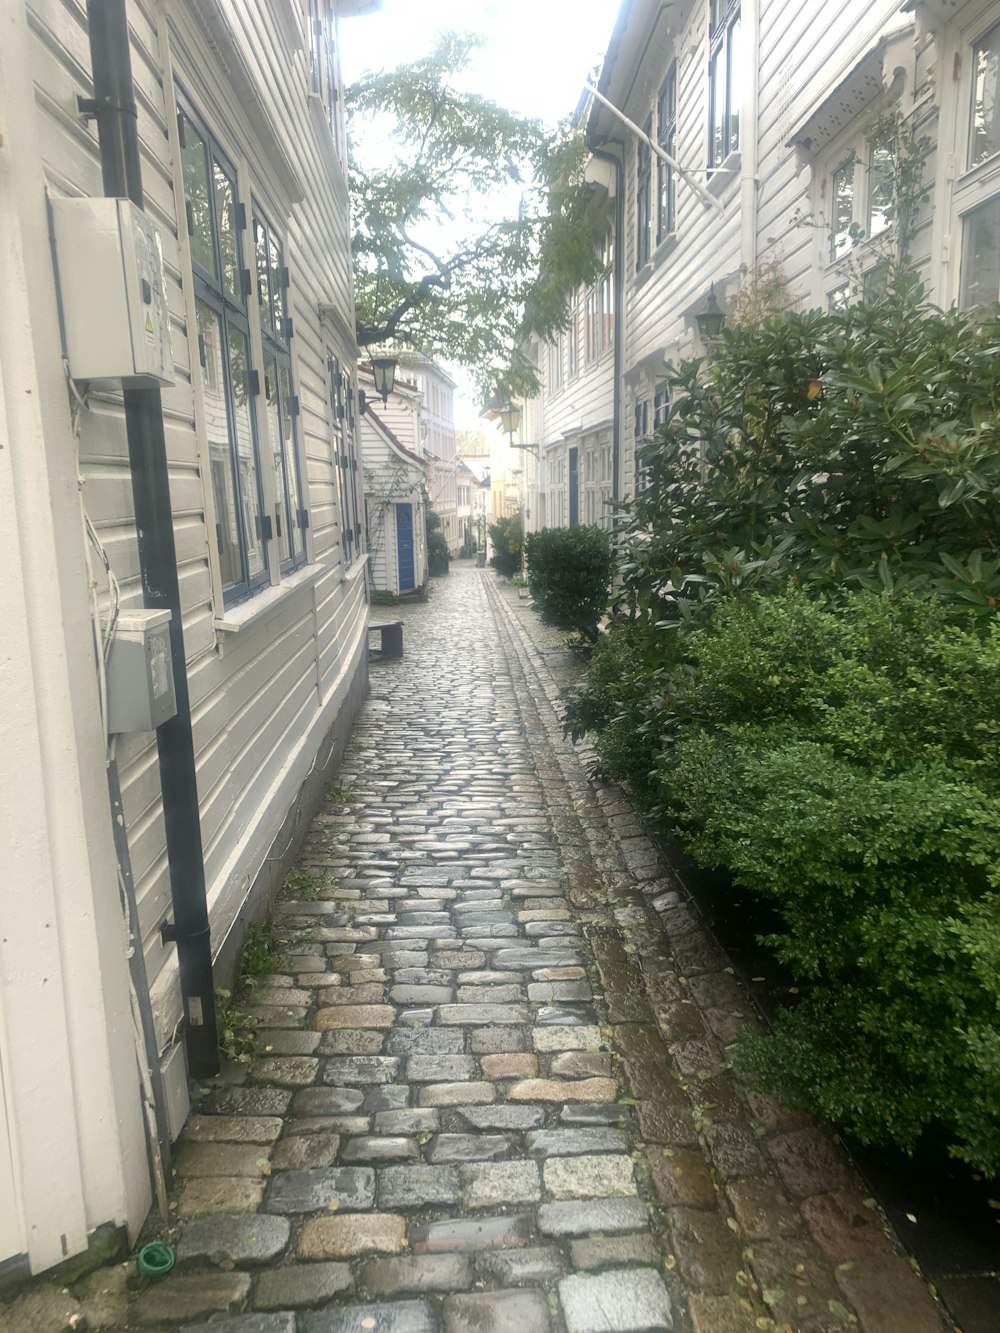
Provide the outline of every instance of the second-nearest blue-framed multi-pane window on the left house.
[[292,360],[288,348],[288,269],[284,248],[271,223],[253,205],[253,251],[257,269],[257,309],[264,352],[264,416],[275,475],[275,540],[281,569],[305,563],[307,512],[299,468],[299,403],[292,393]]

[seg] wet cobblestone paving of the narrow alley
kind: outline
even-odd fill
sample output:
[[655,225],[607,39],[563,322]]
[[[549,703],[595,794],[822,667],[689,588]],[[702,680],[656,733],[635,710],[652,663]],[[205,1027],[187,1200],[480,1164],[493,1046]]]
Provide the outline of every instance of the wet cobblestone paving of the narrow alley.
[[940,1333],[835,1140],[728,1068],[753,1013],[563,740],[559,637],[463,565],[405,619],[129,1326]]

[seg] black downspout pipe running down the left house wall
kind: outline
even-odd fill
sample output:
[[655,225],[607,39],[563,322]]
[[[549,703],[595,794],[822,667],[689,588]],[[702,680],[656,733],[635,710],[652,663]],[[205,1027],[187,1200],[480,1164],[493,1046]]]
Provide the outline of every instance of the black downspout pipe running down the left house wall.
[[[125,0],[88,0],[87,19],[93,75],[88,109],[97,120],[104,193],[144,208]],[[176,716],[156,732],[173,904],[173,924],[164,928],[164,937],[177,945],[188,1070],[193,1078],[211,1078],[219,1073],[219,1038],[163,404],[156,388],[125,389],[124,399],[143,603],[171,612],[177,698]]]

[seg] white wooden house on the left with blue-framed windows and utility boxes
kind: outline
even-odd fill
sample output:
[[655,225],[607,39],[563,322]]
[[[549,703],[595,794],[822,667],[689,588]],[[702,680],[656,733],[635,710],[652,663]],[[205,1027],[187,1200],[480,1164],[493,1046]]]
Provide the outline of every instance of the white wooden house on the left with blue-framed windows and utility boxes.
[[[337,17],[372,7],[124,4],[125,95],[157,237],[140,272],[163,275],[135,292],[147,319],[165,312],[168,337],[161,409],[144,429],[161,423],[153,489],[176,547],[175,660],[201,844],[185,854],[204,864],[223,972],[285,873],[367,689]],[[51,244],[61,201],[104,193],[97,123],[77,103],[99,95],[96,8],[119,12],[113,0],[89,12],[84,0],[9,0],[0,16],[0,1274],[73,1256],[105,1224],[135,1234],[151,1200],[137,1070],[152,1072],[163,1145],[187,1112],[185,1040],[211,1017],[183,997],[169,938],[153,732],[120,734],[109,768],[101,718],[95,617],[100,641],[116,605],[123,617],[140,608],[149,584],[127,448],[135,413],[115,372],[72,387],[64,373],[63,328],[83,321],[81,345],[104,355],[119,337],[113,303],[85,300],[68,265],[60,288],[53,253],[67,259],[68,243]],[[65,235],[76,244],[76,221]],[[125,880],[143,984],[129,974]]]

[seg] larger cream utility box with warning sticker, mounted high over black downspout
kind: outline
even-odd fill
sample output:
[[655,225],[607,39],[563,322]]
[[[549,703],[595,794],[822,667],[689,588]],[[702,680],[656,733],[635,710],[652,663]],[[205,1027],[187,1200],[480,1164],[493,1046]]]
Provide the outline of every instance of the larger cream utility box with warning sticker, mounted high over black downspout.
[[128,199],[51,199],[69,373],[173,384],[160,233]]

